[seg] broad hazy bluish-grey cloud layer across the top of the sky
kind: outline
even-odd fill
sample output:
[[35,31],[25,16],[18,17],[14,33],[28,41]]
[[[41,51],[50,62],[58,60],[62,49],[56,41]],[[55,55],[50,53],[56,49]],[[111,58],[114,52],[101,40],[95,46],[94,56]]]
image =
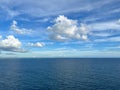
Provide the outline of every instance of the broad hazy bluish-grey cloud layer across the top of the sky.
[[[72,12],[88,12],[101,8],[109,3],[117,2],[115,0],[1,0],[0,6],[5,6],[1,11],[6,11],[9,16],[29,15],[33,17],[43,17],[50,15],[59,15]],[[58,7],[59,5],[59,7]],[[100,10],[99,10],[100,11]],[[101,12],[100,12],[101,13]]]

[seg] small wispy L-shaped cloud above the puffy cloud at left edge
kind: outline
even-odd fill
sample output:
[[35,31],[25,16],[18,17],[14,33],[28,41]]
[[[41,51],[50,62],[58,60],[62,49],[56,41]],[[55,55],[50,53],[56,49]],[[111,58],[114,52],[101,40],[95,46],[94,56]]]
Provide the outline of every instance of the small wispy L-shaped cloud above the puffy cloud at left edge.
[[30,34],[32,32],[31,29],[20,28],[17,26],[17,21],[13,21],[10,26],[10,30],[15,31],[17,34]]

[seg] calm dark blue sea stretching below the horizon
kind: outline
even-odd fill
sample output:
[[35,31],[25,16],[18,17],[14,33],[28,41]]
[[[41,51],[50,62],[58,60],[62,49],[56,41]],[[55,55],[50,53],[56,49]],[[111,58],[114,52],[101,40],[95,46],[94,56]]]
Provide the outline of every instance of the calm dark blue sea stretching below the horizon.
[[0,90],[120,90],[120,59],[0,59]]

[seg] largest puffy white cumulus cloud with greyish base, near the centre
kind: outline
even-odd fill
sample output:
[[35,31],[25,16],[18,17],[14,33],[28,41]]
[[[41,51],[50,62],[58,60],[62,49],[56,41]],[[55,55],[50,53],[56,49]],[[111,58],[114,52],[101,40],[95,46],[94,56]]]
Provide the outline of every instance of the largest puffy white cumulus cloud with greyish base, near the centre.
[[64,15],[59,15],[54,22],[54,25],[48,27],[50,39],[57,41],[88,39],[88,27],[85,24],[79,25],[77,20],[68,19]]

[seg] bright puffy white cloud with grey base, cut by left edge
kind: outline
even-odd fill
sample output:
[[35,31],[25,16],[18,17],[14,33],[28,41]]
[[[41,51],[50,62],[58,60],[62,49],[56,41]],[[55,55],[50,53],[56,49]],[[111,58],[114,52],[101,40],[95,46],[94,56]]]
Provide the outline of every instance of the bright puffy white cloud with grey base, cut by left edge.
[[25,52],[21,46],[22,43],[13,35],[7,36],[6,39],[0,39],[0,51]]

